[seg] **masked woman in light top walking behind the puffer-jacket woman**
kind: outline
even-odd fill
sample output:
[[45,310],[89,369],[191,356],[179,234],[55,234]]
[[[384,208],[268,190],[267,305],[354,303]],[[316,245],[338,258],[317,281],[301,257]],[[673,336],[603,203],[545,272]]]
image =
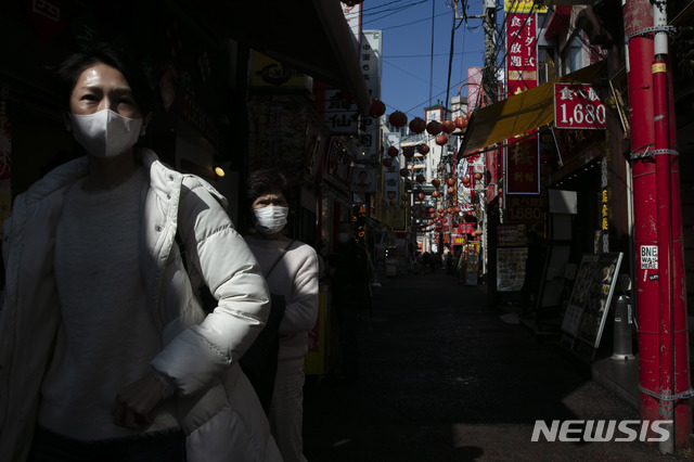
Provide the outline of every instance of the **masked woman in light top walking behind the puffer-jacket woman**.
[[308,332],[318,317],[319,285],[316,251],[282,233],[290,211],[288,191],[288,181],[279,170],[256,170],[248,178],[247,197],[256,233],[246,236],[246,242],[260,262],[273,305],[284,303],[269,414],[285,462],[306,461],[301,436],[304,361]]

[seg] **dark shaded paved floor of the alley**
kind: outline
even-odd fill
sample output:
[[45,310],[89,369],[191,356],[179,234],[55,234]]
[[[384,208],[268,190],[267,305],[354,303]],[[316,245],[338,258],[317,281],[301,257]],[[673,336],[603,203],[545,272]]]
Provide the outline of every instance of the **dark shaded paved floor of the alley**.
[[639,441],[532,442],[536,421],[639,414],[554,345],[503,322],[484,285],[460,285],[441,270],[382,284],[360,324],[360,378],[307,380],[309,462],[694,459]]

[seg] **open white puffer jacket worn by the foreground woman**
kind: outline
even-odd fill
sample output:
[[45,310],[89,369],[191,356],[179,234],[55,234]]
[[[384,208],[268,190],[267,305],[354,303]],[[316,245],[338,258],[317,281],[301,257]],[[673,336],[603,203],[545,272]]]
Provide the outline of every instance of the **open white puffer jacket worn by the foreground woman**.
[[[267,319],[269,294],[255,257],[202,179],[171,170],[145,150],[150,170],[141,232],[147,306],[164,349],[152,365],[176,383],[189,461],[281,460],[262,408],[236,359]],[[87,158],[67,163],[17,196],[3,224],[7,283],[0,310],[0,460],[29,449],[60,307],[53,275],[55,229]],[[180,224],[180,226],[179,226]],[[180,232],[191,273],[218,299],[205,316],[175,245]]]

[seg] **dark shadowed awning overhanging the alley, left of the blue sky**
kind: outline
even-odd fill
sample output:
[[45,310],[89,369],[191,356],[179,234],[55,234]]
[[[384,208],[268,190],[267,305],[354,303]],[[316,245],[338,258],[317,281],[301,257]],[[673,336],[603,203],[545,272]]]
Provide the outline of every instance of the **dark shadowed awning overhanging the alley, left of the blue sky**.
[[367,114],[371,98],[340,4],[333,0],[198,0],[192,10],[206,29],[351,93],[359,111]]

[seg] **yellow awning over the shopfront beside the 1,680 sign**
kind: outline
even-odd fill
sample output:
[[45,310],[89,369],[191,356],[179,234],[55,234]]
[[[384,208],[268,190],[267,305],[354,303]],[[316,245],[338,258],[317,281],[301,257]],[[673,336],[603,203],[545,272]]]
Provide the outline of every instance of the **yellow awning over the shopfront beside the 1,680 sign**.
[[[465,130],[461,155],[501,143],[554,121],[554,84],[589,84],[603,77],[601,61],[486,107],[476,110]],[[606,76],[604,76],[606,78]]]

